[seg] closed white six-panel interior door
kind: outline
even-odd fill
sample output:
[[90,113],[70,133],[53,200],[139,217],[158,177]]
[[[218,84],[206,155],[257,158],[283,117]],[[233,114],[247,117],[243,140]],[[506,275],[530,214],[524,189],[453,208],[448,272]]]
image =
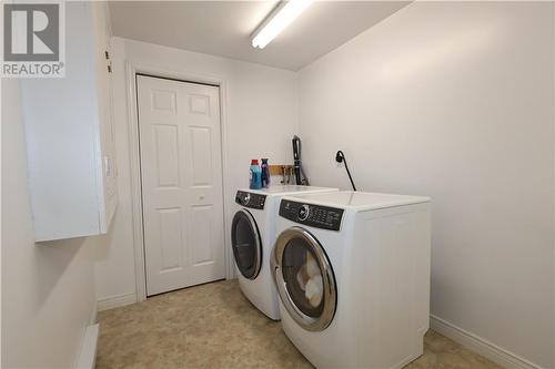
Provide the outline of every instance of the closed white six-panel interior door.
[[137,76],[147,295],[224,278],[219,88]]

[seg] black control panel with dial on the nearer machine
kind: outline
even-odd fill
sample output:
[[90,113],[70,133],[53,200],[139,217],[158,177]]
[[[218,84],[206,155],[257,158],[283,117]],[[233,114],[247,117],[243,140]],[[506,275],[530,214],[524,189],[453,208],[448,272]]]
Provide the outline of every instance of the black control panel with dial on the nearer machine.
[[340,230],[343,209],[282,199],[280,216],[311,227]]

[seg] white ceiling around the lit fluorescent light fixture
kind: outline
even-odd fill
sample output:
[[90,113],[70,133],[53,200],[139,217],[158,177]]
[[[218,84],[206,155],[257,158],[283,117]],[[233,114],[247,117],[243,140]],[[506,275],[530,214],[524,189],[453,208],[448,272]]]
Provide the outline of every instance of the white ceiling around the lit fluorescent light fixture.
[[297,71],[406,6],[316,1],[266,48],[251,34],[278,1],[110,1],[114,35]]

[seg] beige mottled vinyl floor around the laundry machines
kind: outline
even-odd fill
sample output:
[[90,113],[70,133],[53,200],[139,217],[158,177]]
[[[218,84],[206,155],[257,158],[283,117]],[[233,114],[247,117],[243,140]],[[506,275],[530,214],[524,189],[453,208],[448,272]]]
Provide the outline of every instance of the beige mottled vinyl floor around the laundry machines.
[[[97,368],[312,368],[241,294],[236,279],[190,287],[99,314]],[[500,368],[430,330],[406,368]]]

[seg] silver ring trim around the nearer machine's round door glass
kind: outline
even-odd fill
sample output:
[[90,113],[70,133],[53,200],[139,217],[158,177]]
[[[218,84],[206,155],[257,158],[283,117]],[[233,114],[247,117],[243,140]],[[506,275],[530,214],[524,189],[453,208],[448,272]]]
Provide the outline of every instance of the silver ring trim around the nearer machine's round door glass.
[[[320,270],[322,271],[322,283],[324,289],[324,308],[322,310],[322,315],[319,318],[312,318],[303,314],[299,308],[296,308],[295,304],[291,299],[291,296],[287,291],[286,283],[283,279],[282,273],[282,260],[283,253],[285,250],[285,246],[293,238],[302,238],[310,246],[310,248],[314,252],[316,256],[316,262],[320,266]],[[272,257],[270,258],[270,265],[272,269],[272,276],[274,279],[274,284],[278,288],[278,293],[280,295],[280,299],[283,303],[283,306],[290,314],[290,316],[304,329],[310,331],[321,331],[327,328],[333,320],[336,308],[336,286],[335,278],[333,276],[333,269],[327,259],[327,256],[322,248],[322,245],[317,242],[317,239],[306,229],[302,227],[291,227],[283,230],[278,239],[275,240],[274,249],[272,253]]]

